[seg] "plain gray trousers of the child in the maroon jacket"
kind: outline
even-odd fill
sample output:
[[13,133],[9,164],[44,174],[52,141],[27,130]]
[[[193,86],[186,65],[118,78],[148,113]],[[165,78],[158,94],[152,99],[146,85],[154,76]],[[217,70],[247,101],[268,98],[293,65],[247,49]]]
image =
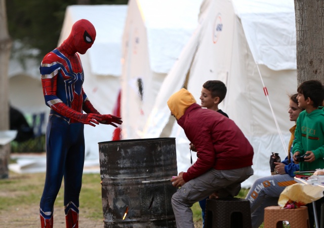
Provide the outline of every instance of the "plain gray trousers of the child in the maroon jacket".
[[211,169],[186,182],[171,200],[177,228],[194,228],[191,206],[195,202],[206,199],[215,192],[220,198],[236,196],[241,189],[241,182],[251,175],[251,166],[232,170]]

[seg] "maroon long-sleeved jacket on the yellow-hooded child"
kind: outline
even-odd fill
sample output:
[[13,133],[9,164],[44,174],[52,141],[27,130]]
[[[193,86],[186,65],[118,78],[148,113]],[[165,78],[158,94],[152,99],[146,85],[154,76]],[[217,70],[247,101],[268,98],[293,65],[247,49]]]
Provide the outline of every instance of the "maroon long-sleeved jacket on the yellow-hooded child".
[[197,161],[183,174],[186,182],[211,168],[228,170],[252,165],[252,145],[232,120],[217,111],[194,103],[178,124],[198,151]]

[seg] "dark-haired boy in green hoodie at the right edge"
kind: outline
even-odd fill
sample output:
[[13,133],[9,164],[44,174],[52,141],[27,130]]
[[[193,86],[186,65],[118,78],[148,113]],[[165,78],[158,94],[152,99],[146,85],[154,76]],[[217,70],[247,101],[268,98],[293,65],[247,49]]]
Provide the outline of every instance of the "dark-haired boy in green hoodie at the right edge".
[[304,108],[297,119],[293,158],[303,156],[304,161],[299,162],[300,171],[324,168],[324,86],[317,80],[302,83],[298,89],[298,106]]

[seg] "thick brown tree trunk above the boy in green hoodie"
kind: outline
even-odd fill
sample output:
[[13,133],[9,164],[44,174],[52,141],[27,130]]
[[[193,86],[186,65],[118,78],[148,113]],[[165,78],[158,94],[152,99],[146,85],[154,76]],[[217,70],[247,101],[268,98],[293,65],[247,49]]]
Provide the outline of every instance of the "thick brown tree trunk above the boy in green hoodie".
[[297,82],[324,82],[324,1],[295,0]]

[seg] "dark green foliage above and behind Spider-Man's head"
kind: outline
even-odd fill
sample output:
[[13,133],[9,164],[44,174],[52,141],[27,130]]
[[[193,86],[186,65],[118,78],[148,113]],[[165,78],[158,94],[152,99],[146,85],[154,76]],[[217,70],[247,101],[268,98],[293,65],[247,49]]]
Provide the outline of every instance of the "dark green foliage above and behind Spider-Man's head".
[[57,47],[66,7],[82,2],[116,5],[127,4],[128,0],[7,0],[9,34],[12,40],[23,44],[23,49],[40,50],[37,58],[42,59]]

